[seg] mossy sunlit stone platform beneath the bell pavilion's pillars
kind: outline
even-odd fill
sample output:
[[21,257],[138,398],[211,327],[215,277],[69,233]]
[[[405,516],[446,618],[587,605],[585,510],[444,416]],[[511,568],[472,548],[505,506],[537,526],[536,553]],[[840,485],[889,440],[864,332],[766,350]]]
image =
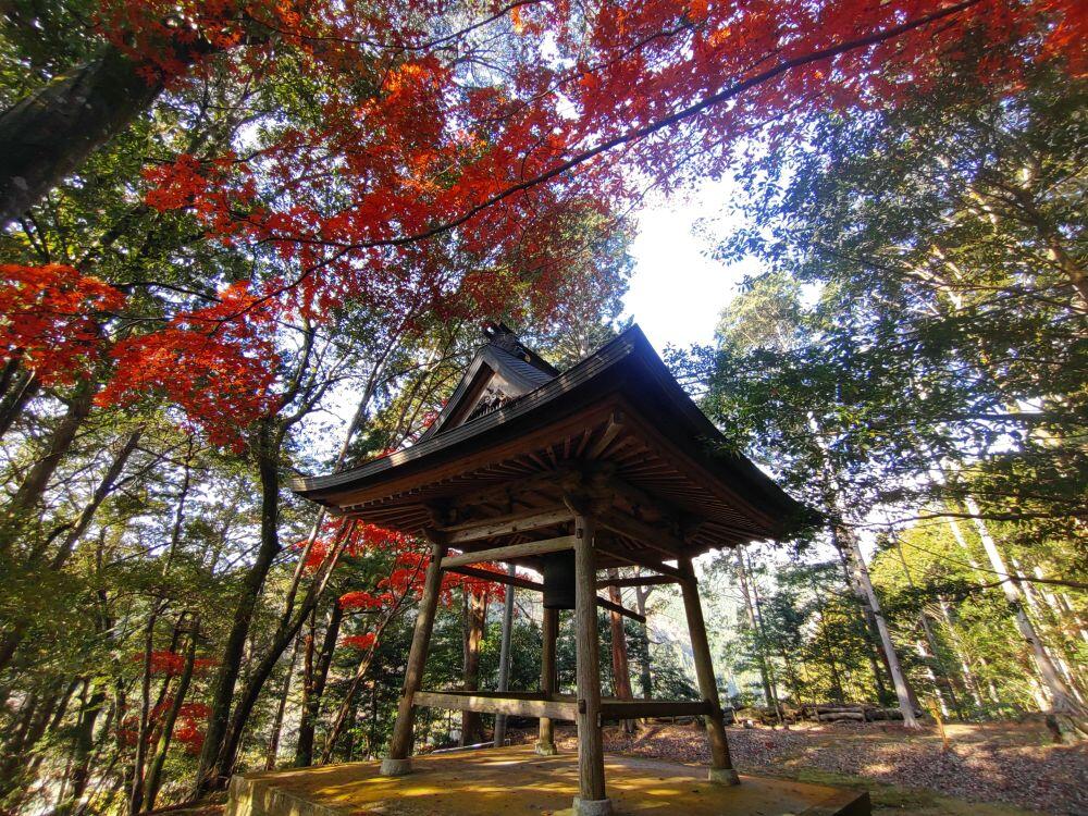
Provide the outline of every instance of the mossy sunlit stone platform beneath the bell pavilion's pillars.
[[[706,767],[605,755],[615,814],[683,816],[869,816],[867,793],[741,776],[716,784]],[[411,772],[381,776],[378,762],[235,777],[225,816],[556,816],[578,795],[573,754],[537,756],[531,745],[417,756]]]

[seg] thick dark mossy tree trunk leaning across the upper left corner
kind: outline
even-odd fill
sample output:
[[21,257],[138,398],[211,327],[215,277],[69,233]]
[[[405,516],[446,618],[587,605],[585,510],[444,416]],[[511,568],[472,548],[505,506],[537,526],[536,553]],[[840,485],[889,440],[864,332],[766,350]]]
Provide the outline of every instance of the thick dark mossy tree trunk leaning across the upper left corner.
[[123,133],[162,90],[108,46],[0,113],[0,227]]

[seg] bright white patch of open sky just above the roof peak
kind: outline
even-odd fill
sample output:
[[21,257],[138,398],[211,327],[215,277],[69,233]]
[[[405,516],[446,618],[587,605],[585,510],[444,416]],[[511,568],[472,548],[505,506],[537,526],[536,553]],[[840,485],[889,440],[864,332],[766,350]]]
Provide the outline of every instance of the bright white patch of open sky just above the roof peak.
[[[721,215],[729,195],[728,182],[708,182],[683,200],[658,200],[636,215],[635,269],[625,317],[634,317],[658,351],[710,343],[737,285],[758,272],[751,259],[729,265],[714,260],[710,244],[693,234],[700,219]],[[727,227],[719,222],[715,228]]]

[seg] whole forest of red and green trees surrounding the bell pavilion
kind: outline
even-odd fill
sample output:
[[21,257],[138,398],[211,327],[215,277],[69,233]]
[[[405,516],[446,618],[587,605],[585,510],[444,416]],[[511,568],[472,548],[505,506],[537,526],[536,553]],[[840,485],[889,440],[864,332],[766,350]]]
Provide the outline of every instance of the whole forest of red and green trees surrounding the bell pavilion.
[[[410,445],[486,321],[594,350],[630,318],[632,213],[707,178],[701,240],[752,274],[667,360],[826,519],[701,561],[722,692],[1083,738],[1078,11],[7,3],[3,806],[381,755],[423,551],[287,481]],[[494,688],[502,590],[443,597],[428,682]],[[626,601],[651,623],[602,618],[605,682],[694,695],[675,599]]]

